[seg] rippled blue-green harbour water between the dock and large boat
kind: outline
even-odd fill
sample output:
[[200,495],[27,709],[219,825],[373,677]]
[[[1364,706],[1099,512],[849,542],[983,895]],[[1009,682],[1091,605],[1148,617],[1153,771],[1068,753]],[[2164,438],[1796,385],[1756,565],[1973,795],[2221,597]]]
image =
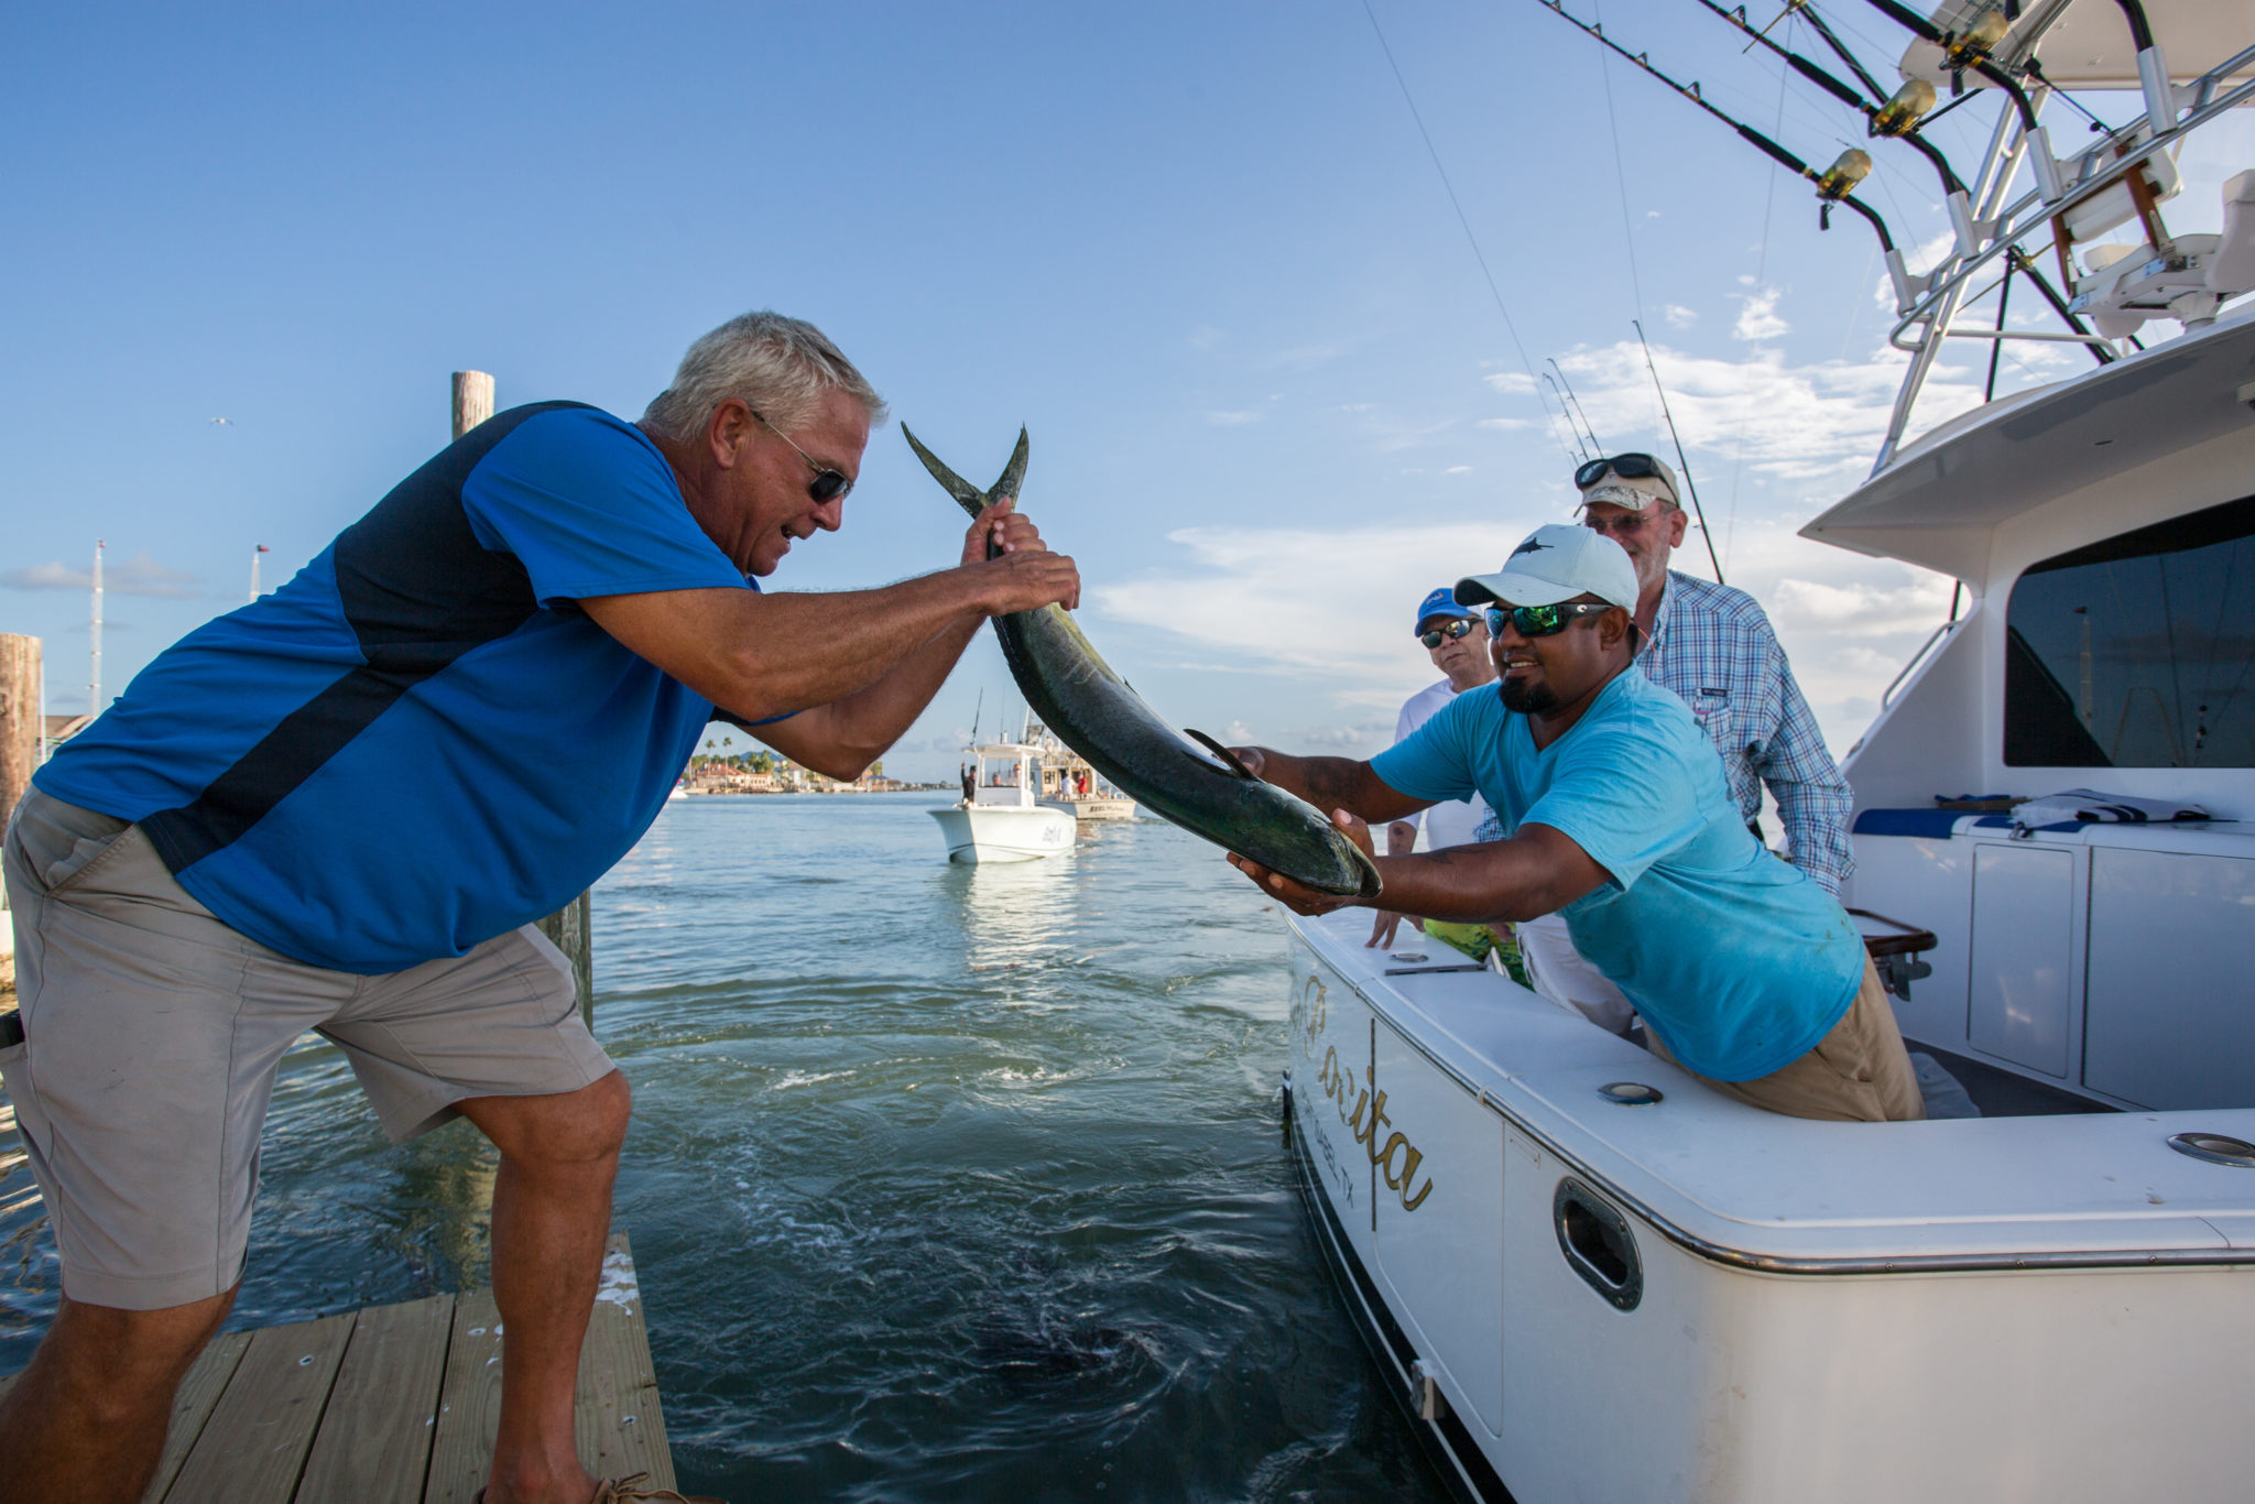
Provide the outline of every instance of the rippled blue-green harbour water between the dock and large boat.
[[[1441,1499],[1276,1130],[1283,927],[1170,825],[940,859],[927,796],[692,798],[595,888],[683,1486],[751,1499]],[[492,1157],[282,1069],[237,1326],[485,1279]],[[56,1267],[0,1139],[0,1371]]]

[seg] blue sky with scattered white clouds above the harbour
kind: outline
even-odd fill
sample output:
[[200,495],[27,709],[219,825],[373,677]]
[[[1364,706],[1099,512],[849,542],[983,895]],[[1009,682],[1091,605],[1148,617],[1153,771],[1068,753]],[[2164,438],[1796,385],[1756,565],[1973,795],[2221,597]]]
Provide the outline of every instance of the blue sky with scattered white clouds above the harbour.
[[[1727,575],[1845,746],[1948,598],[1793,537],[1894,392],[1869,232],[1820,235],[1806,185],[1536,0],[1371,9],[1518,343],[1360,0],[18,9],[0,629],[47,640],[50,710],[79,710],[97,537],[108,697],[244,600],[255,543],[273,586],[444,444],[451,370],[634,415],[690,338],[776,307],[974,478],[1031,428],[1026,512],[1161,715],[1371,751],[1432,679],[1414,602],[1567,512],[1520,350],[1608,446],[1651,446],[1642,313]],[[1901,36],[1831,14],[1892,79]],[[1606,20],[1820,165],[1860,142],[1689,0]],[[1969,176],[1975,115],[1937,131]],[[2246,120],[2219,138],[2178,228],[2255,162]],[[1928,169],[1874,156],[1869,201],[1930,244]],[[2039,347],[2005,388],[2077,361]],[[882,584],[961,537],[897,424],[846,519],[771,586]],[[990,638],[888,767],[949,771],[981,690],[992,726]]]

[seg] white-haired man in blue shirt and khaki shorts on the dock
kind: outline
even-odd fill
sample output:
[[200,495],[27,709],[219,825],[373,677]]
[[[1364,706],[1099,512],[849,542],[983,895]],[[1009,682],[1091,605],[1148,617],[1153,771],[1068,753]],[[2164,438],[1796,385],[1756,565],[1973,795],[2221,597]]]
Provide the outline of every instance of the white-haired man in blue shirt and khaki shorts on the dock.
[[501,1150],[485,1504],[654,1497],[575,1452],[627,1082],[532,920],[627,855],[715,715],[855,778],[979,622],[1078,602],[1008,498],[952,568],[760,593],[843,523],[882,419],[778,313],[699,338],[638,424],[501,413],[36,773],[7,832],[0,1071],[63,1299],[0,1400],[0,1504],[140,1497],[241,1281],[259,1121],[309,1028],[395,1141],[465,1116]]

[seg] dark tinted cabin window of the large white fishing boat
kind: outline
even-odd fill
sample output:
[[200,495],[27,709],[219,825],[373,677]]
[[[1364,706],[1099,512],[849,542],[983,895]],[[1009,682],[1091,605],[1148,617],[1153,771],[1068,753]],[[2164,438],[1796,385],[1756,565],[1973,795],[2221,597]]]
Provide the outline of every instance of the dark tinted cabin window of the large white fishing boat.
[[2255,767],[2255,496],[2027,568],[2007,767]]

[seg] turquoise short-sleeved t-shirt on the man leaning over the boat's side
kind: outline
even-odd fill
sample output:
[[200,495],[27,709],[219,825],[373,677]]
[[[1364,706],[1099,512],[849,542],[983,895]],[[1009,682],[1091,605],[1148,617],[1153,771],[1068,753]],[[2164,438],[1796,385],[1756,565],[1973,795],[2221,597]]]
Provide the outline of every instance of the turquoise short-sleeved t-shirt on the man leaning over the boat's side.
[[1610,879],[1560,911],[1574,949],[1700,1076],[1784,1069],[1856,1001],[1854,920],[1748,834],[1707,735],[1644,674],[1540,751],[1500,690],[1459,695],[1371,767],[1412,798],[1479,791],[1506,834],[1549,825],[1590,852]]

